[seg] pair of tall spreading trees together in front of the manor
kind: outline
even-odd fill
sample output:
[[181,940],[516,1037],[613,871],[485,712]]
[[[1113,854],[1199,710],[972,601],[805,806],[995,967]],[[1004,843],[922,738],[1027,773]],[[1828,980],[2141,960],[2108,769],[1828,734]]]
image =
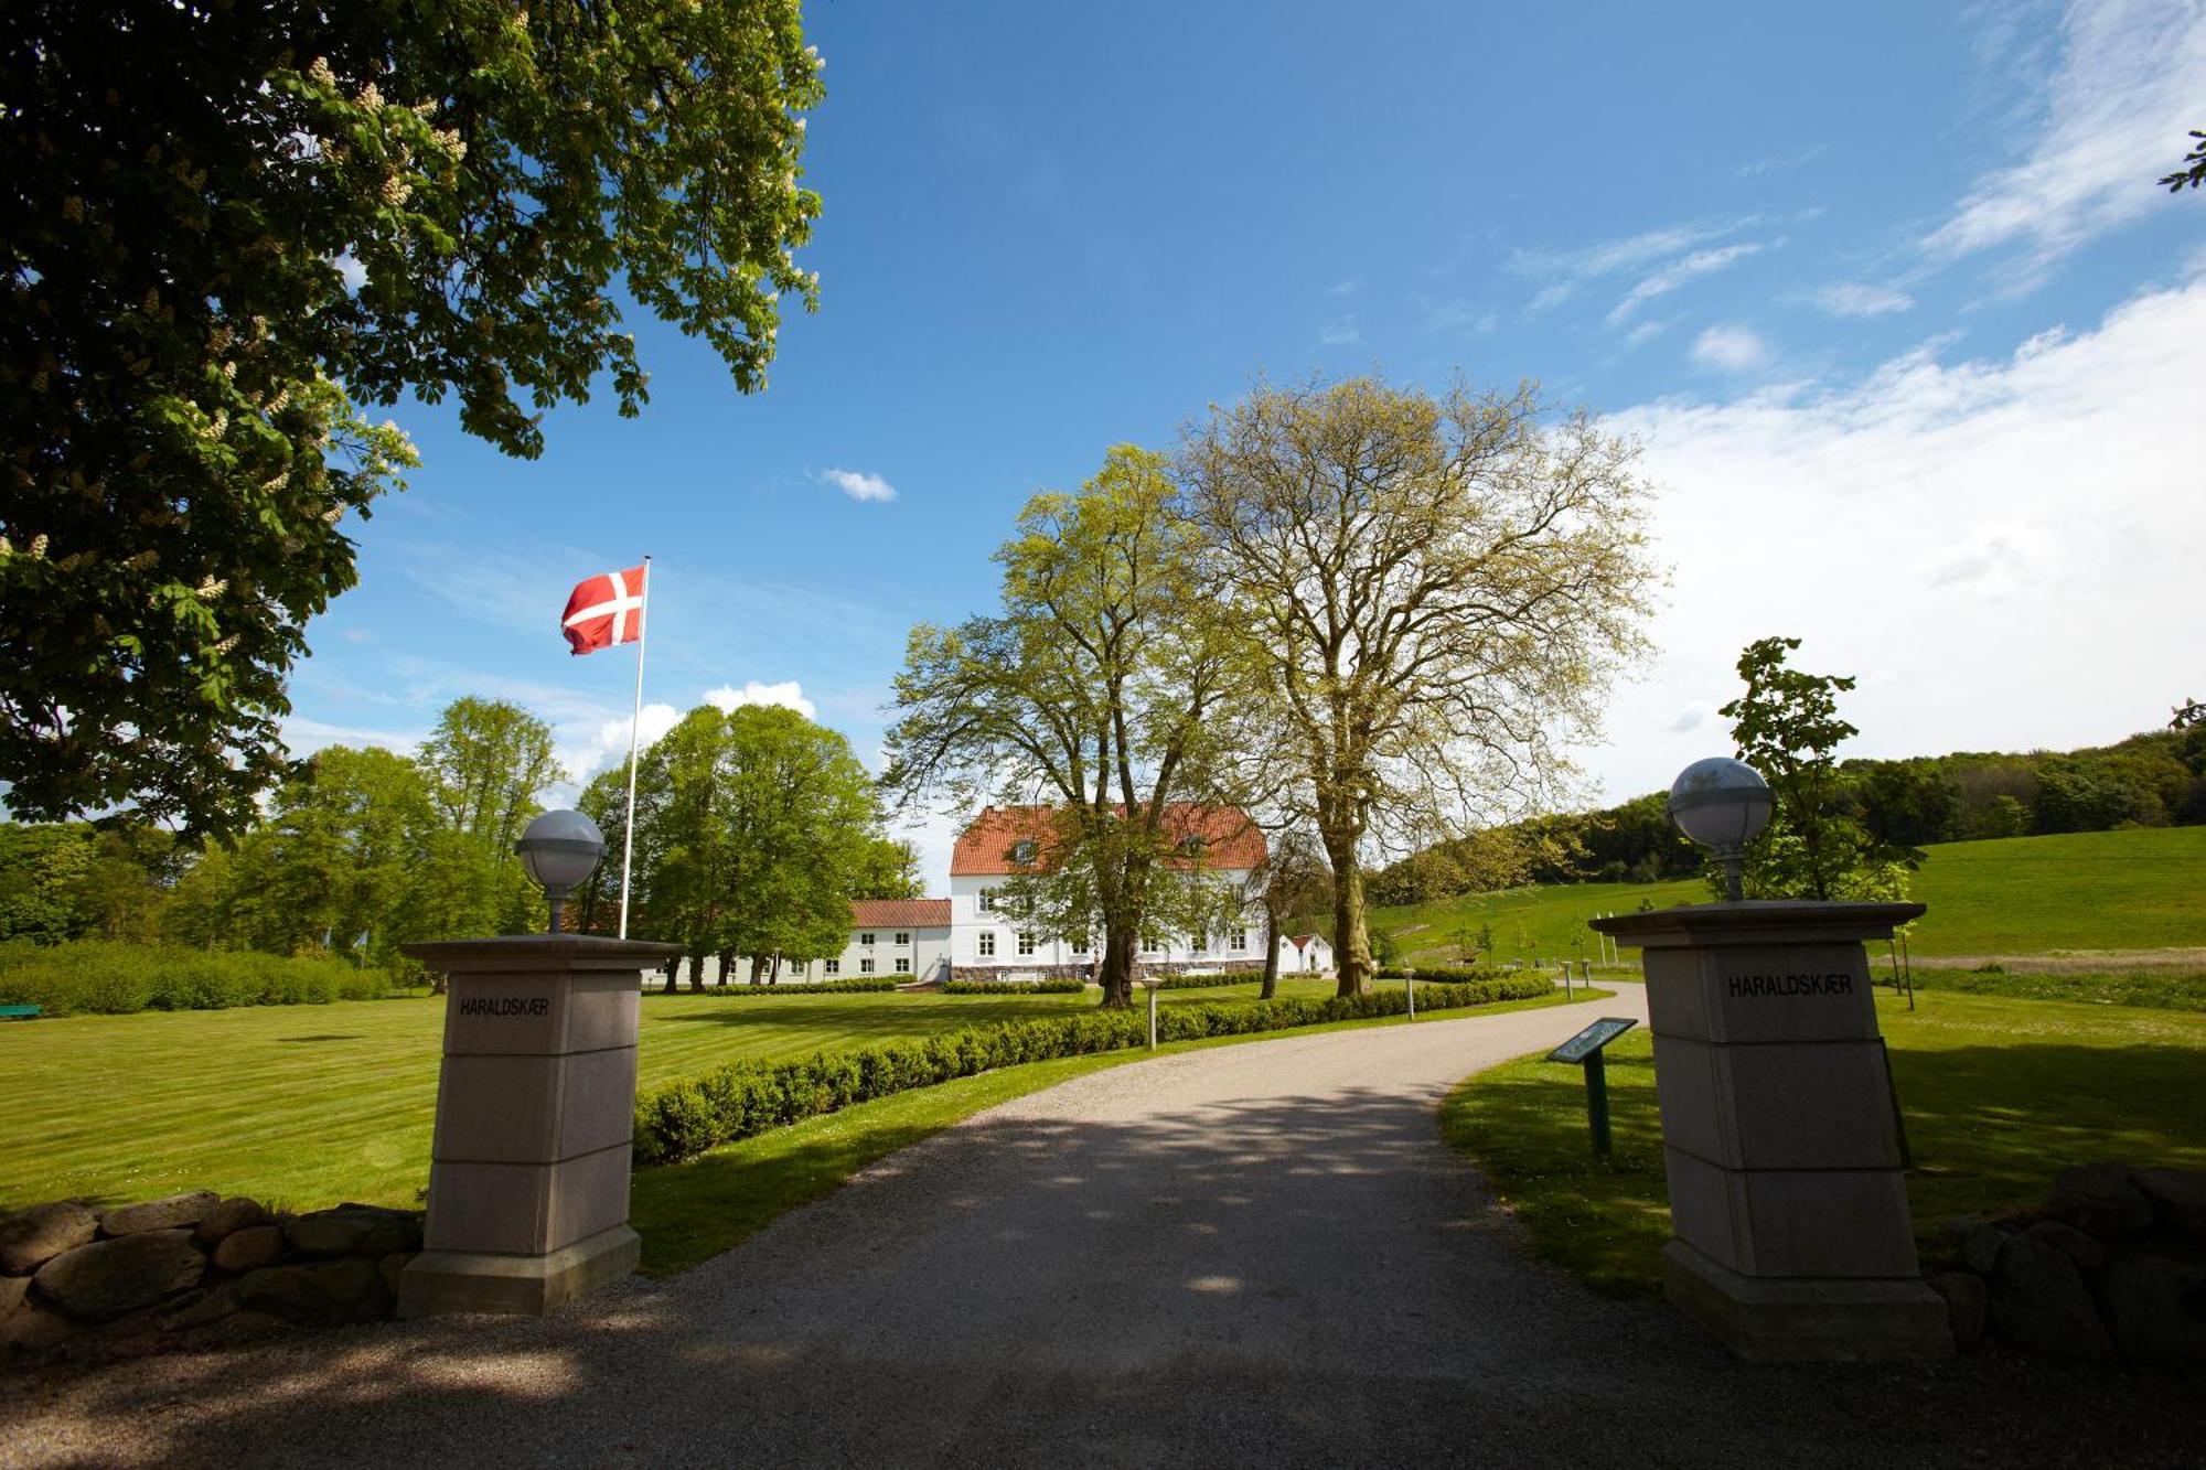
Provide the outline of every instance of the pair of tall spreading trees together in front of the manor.
[[1246,808],[1324,854],[1357,993],[1368,852],[1551,803],[1639,651],[1635,461],[1531,384],[1260,384],[1174,455],[1121,446],[1028,503],[999,611],[913,629],[885,784],[1050,803],[1004,907],[1101,934],[1105,1004],[1145,929],[1202,923],[1176,803]]

